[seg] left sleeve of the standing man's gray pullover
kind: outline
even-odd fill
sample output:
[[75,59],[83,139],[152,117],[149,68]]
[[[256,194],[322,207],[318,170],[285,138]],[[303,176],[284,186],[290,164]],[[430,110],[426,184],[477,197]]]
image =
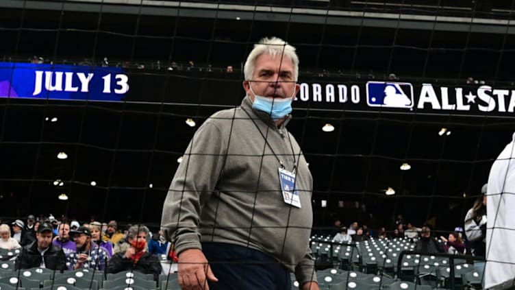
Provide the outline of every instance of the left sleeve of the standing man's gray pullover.
[[226,145],[221,130],[208,119],[194,134],[164,201],[161,227],[180,252],[201,249],[201,200],[212,193],[225,162]]

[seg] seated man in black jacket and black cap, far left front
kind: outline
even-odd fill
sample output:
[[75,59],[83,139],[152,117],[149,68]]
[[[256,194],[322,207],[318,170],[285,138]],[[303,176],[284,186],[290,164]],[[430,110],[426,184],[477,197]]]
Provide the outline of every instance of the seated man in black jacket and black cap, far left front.
[[36,233],[36,241],[25,245],[16,258],[16,269],[66,269],[66,256],[58,245],[52,243],[52,230],[50,223],[41,224]]

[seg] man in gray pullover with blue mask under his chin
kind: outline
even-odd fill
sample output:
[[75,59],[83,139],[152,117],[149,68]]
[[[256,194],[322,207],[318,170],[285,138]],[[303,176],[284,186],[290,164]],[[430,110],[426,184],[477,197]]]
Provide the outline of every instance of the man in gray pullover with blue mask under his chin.
[[312,176],[286,130],[298,75],[294,47],[260,40],[241,106],[213,114],[190,141],[162,213],[182,289],[290,289],[290,272],[301,289],[318,289]]

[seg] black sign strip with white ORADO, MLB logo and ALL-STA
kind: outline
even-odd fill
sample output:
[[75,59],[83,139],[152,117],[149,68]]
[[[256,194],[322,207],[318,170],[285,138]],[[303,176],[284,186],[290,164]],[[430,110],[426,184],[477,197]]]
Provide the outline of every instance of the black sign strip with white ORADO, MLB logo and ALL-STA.
[[296,106],[334,110],[514,115],[515,90],[408,82],[302,83]]

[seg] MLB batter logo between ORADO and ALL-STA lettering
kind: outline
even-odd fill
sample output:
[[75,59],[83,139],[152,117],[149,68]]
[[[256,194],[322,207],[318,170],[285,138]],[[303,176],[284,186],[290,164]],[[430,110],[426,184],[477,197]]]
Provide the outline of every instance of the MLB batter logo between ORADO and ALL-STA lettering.
[[413,108],[413,86],[409,82],[367,82],[366,104],[370,107]]

